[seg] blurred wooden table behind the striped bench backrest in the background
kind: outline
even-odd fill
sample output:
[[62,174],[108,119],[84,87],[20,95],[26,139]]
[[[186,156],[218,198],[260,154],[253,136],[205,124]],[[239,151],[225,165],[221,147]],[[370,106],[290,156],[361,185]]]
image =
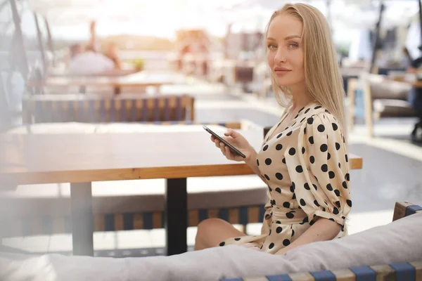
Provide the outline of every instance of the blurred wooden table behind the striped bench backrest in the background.
[[[159,93],[160,86],[175,84],[178,81],[175,74],[166,72],[136,72],[124,76],[85,76],[85,77],[47,77],[43,81],[27,81],[27,86],[36,88],[42,87],[63,87],[79,86],[79,91],[84,93],[87,86],[113,87],[120,89],[122,86],[154,86]],[[117,92],[115,92],[117,93]]]

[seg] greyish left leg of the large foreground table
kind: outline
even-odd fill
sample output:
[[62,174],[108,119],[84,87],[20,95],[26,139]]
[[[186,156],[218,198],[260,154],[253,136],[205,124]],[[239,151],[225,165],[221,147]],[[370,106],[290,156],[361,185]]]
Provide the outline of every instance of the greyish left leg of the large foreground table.
[[73,254],[94,256],[91,183],[70,183]]

